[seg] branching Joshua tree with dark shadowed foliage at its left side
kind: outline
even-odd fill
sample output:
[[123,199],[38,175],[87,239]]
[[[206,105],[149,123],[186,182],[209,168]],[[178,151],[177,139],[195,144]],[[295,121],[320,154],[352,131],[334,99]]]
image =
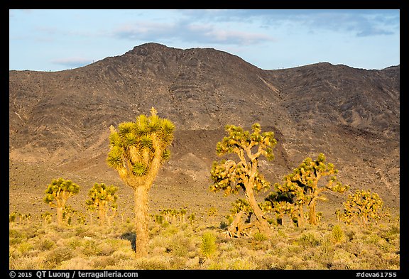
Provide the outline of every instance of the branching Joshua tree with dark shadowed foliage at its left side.
[[[292,188],[292,191],[298,192],[297,199],[299,208],[302,209],[302,204],[308,202],[309,215],[308,221],[310,224],[317,224],[317,213],[315,207],[317,200],[326,200],[322,192],[333,191],[343,193],[349,189],[349,185],[342,185],[337,181],[336,174],[338,170],[334,168],[332,163],[325,163],[325,155],[320,153],[317,160],[306,158],[302,161],[298,168],[293,170],[293,173],[285,177],[287,187]],[[324,185],[318,185],[320,179],[329,176],[329,179]],[[300,207],[301,206],[301,207]],[[302,212],[300,212],[300,217]]]

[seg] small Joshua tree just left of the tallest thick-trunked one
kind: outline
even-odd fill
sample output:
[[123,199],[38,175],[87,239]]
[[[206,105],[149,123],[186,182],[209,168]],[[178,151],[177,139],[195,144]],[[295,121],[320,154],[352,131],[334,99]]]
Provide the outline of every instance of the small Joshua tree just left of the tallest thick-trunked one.
[[[117,208],[117,190],[118,187],[115,187],[114,185],[107,186],[104,183],[95,183],[94,186],[89,190],[89,199],[85,203],[88,205],[90,210],[98,209],[99,225],[105,224],[105,218],[108,217],[107,214],[109,207],[111,207],[114,212],[112,217],[114,216]],[[109,217],[108,219],[110,220]]]

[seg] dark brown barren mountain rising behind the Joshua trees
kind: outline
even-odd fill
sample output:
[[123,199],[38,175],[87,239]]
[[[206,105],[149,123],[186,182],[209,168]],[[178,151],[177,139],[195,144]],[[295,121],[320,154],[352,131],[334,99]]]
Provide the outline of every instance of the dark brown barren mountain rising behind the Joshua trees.
[[[151,190],[153,208],[204,209],[216,199],[229,207],[231,199],[207,190],[212,161],[219,160],[216,143],[227,124],[255,122],[278,140],[276,159],[261,162],[272,184],[304,158],[324,153],[351,190],[371,189],[399,208],[399,65],[262,70],[212,48],[146,43],[73,70],[9,72],[11,209],[44,207],[43,190],[56,175],[84,188],[123,186],[105,163],[109,126],[149,114],[152,106],[176,126],[172,158]],[[18,199],[21,192],[29,198]],[[345,199],[328,197],[337,206]]]

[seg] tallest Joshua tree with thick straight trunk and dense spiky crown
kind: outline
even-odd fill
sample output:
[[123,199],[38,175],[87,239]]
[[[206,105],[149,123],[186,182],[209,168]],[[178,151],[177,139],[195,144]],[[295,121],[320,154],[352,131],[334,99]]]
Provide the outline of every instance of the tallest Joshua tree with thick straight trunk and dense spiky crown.
[[136,256],[146,256],[148,244],[148,193],[160,165],[170,157],[175,125],[161,119],[156,109],[141,114],[135,122],[110,127],[107,163],[133,189],[135,199]]

